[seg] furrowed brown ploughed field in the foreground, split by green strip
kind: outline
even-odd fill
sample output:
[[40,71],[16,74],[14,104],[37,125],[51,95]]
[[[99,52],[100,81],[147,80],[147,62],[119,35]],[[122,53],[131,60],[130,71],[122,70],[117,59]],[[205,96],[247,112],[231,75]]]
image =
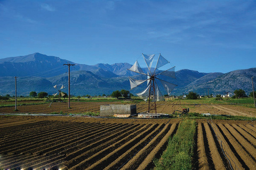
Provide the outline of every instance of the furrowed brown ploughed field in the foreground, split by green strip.
[[[150,169],[182,118],[1,116],[0,168]],[[196,120],[195,169],[255,169],[255,121]]]

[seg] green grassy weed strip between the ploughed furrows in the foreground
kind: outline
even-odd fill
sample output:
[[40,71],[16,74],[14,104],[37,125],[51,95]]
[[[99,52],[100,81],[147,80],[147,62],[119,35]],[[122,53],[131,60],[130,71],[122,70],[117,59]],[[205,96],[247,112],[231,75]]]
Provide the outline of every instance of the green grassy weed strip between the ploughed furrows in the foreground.
[[177,133],[169,139],[168,146],[159,160],[155,160],[155,169],[191,169],[196,122],[185,120],[179,124]]

